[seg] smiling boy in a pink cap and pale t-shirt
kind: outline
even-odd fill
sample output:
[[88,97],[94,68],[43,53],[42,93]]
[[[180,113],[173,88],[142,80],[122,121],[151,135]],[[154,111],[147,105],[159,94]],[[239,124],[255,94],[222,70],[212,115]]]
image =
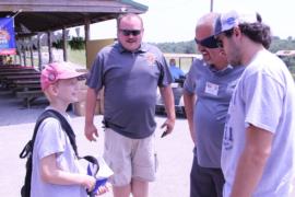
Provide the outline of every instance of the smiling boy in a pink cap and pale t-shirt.
[[[70,123],[66,109],[70,103],[78,101],[78,77],[83,74],[69,62],[47,65],[40,77],[42,90],[50,103],[46,109],[58,112]],[[79,165],[60,121],[54,117],[43,120],[33,149],[31,196],[84,197],[87,196],[86,189],[94,188],[95,182]],[[102,187],[98,193],[106,190]]]

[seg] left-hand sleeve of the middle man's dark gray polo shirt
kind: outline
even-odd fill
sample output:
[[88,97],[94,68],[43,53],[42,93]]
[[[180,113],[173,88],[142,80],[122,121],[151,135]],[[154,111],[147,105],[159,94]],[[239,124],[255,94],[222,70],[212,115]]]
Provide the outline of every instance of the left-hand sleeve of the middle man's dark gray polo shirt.
[[86,80],[86,84],[88,85],[88,88],[95,89],[96,91],[99,91],[102,89],[104,76],[103,72],[103,56],[102,54],[97,54]]

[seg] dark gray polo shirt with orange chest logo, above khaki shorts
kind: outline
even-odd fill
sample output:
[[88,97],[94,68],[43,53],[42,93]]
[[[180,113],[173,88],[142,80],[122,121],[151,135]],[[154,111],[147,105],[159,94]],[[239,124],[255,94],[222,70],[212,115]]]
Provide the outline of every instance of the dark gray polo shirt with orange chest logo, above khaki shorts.
[[115,131],[134,139],[151,136],[157,86],[173,81],[163,54],[142,44],[130,53],[118,43],[103,48],[92,66],[87,85],[96,91],[105,86],[105,120]]

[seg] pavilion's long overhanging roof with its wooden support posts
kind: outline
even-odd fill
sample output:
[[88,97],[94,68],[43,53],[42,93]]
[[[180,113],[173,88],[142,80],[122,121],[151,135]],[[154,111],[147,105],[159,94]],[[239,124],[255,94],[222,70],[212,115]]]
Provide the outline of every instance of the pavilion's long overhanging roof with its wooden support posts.
[[[90,39],[90,24],[116,19],[121,13],[144,13],[148,7],[132,0],[2,0],[0,18],[14,18],[16,39],[47,33],[49,62],[52,61],[51,33],[62,30],[63,60],[68,60],[66,50],[66,30],[84,25],[85,43]],[[31,48],[32,42],[20,42],[19,48]],[[39,36],[37,49],[40,49]],[[31,48],[32,50],[32,48]],[[31,53],[32,54],[32,53]],[[39,54],[39,69],[42,55]],[[20,56],[21,58],[21,56]],[[21,59],[20,59],[21,61]],[[24,61],[25,63],[25,61]],[[26,65],[24,65],[26,66]]]

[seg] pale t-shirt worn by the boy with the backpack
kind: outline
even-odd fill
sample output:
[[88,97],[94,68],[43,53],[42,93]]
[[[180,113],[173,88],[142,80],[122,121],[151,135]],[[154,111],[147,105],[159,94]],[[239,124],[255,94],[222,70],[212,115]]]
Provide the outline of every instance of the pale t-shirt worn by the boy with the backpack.
[[[66,116],[64,116],[66,117]],[[70,117],[66,117],[70,123]],[[56,185],[45,183],[40,176],[40,160],[57,154],[57,165],[62,171],[85,173],[81,169],[70,140],[59,120],[46,118],[39,126],[33,150],[33,171],[31,182],[32,197],[86,197],[81,185]],[[85,173],[86,174],[86,173]]]

